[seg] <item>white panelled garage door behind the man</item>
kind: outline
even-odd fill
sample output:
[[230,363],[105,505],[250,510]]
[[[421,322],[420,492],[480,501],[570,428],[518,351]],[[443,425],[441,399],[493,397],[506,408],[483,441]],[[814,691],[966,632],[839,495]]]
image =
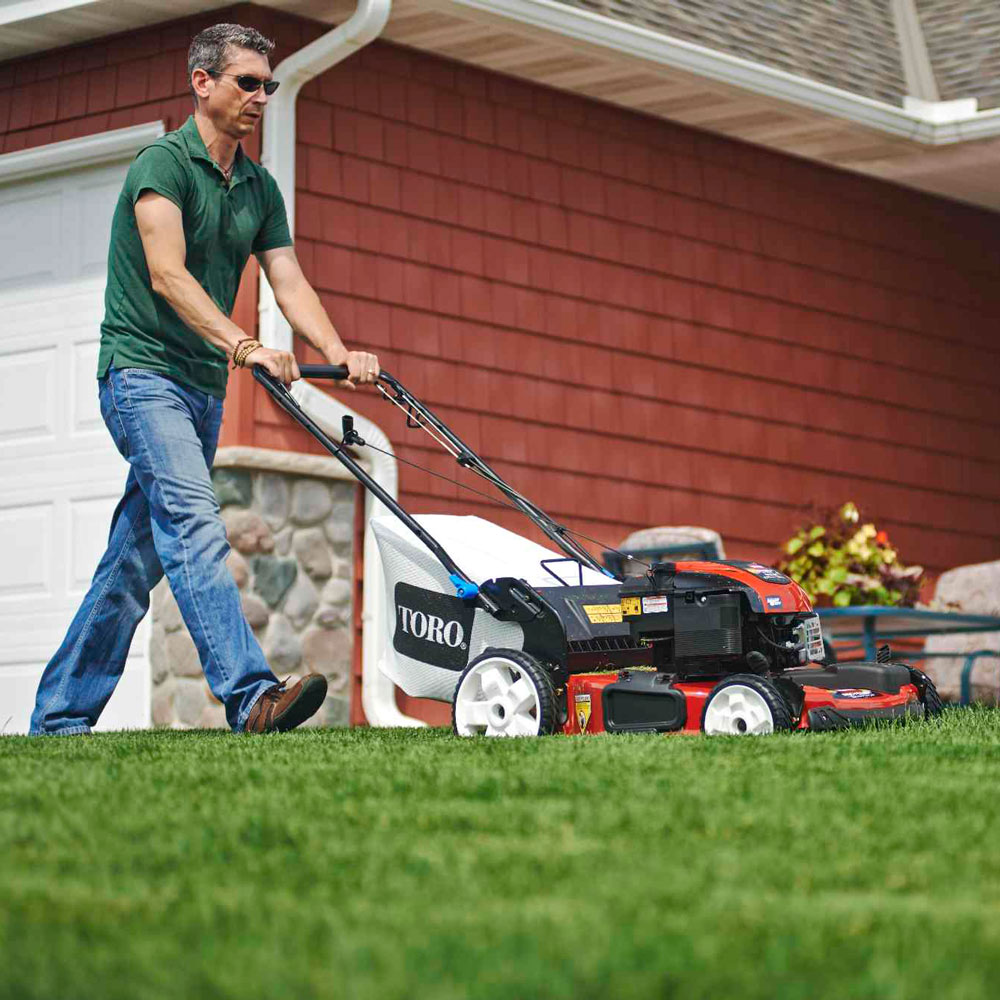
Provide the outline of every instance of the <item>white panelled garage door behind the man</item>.
[[[107,543],[127,465],[101,420],[108,235],[128,161],[0,186],[0,731],[38,678]],[[149,725],[148,622],[99,728]]]

